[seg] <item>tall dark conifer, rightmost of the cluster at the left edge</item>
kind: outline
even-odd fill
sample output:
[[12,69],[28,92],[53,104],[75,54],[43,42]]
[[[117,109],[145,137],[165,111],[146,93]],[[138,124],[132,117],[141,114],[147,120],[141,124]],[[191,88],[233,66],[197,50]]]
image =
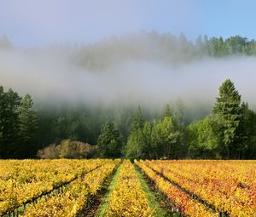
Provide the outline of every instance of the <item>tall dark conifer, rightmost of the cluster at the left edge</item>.
[[33,102],[29,94],[20,101],[20,157],[33,157],[37,151],[36,133],[38,129],[37,112],[32,108]]

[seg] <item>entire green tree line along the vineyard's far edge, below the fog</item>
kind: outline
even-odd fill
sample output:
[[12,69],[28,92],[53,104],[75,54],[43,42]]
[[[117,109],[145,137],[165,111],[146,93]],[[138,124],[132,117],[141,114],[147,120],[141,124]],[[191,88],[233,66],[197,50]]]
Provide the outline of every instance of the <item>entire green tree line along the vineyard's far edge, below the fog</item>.
[[[38,150],[49,145],[61,147],[57,144],[64,144],[63,140],[70,140],[67,146],[73,150],[72,141],[76,140],[76,144],[92,145],[93,154],[83,152],[87,157],[256,158],[256,113],[241,101],[230,79],[220,85],[212,112],[192,123],[185,123],[182,111],[175,112],[170,105],[160,116],[148,116],[143,106],[135,113],[131,109],[113,111],[118,121],[102,117],[106,111],[102,112],[83,106],[56,114],[35,111],[29,94],[20,97],[1,86],[0,157],[36,157]],[[86,147],[79,143],[84,151]]]

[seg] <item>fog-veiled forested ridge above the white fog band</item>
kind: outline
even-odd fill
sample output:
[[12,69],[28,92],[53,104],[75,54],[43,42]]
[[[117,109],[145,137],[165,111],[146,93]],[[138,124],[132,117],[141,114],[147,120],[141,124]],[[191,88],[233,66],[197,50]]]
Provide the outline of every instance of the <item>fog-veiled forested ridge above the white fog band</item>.
[[96,71],[125,61],[154,61],[177,65],[206,57],[256,55],[256,42],[247,37],[197,37],[189,41],[183,34],[157,31],[110,37],[79,49],[76,61]]

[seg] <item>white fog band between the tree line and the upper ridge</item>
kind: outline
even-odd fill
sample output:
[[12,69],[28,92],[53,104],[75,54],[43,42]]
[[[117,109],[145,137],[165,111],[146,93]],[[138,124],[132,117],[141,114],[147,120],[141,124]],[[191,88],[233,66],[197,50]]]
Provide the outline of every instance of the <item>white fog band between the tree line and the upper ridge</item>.
[[35,102],[68,101],[95,104],[135,103],[157,106],[182,99],[185,103],[215,101],[226,78],[251,106],[256,58],[205,58],[182,64],[124,60],[90,71],[73,61],[72,52],[10,49],[0,52],[0,85]]

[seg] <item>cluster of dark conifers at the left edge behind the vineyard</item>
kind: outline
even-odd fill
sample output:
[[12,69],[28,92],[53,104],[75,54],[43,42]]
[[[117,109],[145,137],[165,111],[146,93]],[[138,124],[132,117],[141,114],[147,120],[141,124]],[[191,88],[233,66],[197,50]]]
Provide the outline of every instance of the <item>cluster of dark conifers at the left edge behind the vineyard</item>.
[[37,151],[37,112],[29,94],[20,97],[0,86],[0,158],[34,157]]

